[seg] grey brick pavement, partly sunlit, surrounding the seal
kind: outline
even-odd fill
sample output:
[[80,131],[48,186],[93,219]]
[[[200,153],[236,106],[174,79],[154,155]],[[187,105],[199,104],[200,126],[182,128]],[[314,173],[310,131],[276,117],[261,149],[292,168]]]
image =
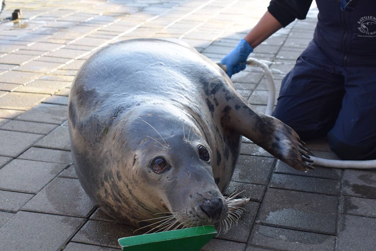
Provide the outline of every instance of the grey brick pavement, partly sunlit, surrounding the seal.
[[[100,47],[175,37],[220,60],[268,0],[7,0],[0,16],[0,250],[117,250],[133,229],[97,209],[79,185],[67,127],[71,81]],[[9,21],[14,9],[23,17]],[[312,39],[317,11],[255,49],[280,80]],[[249,67],[237,91],[265,110],[267,82]],[[325,139],[316,156],[338,158]],[[251,198],[238,226],[205,251],[374,250],[376,172],[318,167],[301,173],[247,139],[226,194]]]

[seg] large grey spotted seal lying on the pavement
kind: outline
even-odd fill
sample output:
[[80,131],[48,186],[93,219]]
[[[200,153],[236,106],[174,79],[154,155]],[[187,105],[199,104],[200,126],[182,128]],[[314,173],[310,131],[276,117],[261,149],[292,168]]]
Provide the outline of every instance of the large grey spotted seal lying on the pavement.
[[68,110],[80,183],[103,211],[132,225],[161,212],[182,225],[226,218],[221,192],[241,135],[308,168],[296,133],[253,109],[223,70],[181,41],[100,50],[77,73]]

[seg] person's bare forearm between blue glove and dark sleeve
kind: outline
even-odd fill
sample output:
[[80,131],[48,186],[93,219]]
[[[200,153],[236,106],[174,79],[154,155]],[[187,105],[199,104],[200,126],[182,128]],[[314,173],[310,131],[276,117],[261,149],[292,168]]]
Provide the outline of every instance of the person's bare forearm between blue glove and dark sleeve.
[[256,26],[244,37],[244,40],[252,48],[255,48],[280,28],[282,28],[282,25],[279,21],[269,11],[266,11]]

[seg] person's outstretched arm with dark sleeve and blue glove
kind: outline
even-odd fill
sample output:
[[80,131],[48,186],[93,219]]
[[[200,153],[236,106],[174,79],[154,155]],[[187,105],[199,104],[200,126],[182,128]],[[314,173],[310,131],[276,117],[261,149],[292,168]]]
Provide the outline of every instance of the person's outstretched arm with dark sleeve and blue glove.
[[237,47],[221,60],[226,64],[227,75],[231,76],[246,69],[247,57],[253,48],[261,44],[274,32],[298,19],[304,19],[311,6],[312,0],[271,0],[268,10],[256,26],[242,39]]

